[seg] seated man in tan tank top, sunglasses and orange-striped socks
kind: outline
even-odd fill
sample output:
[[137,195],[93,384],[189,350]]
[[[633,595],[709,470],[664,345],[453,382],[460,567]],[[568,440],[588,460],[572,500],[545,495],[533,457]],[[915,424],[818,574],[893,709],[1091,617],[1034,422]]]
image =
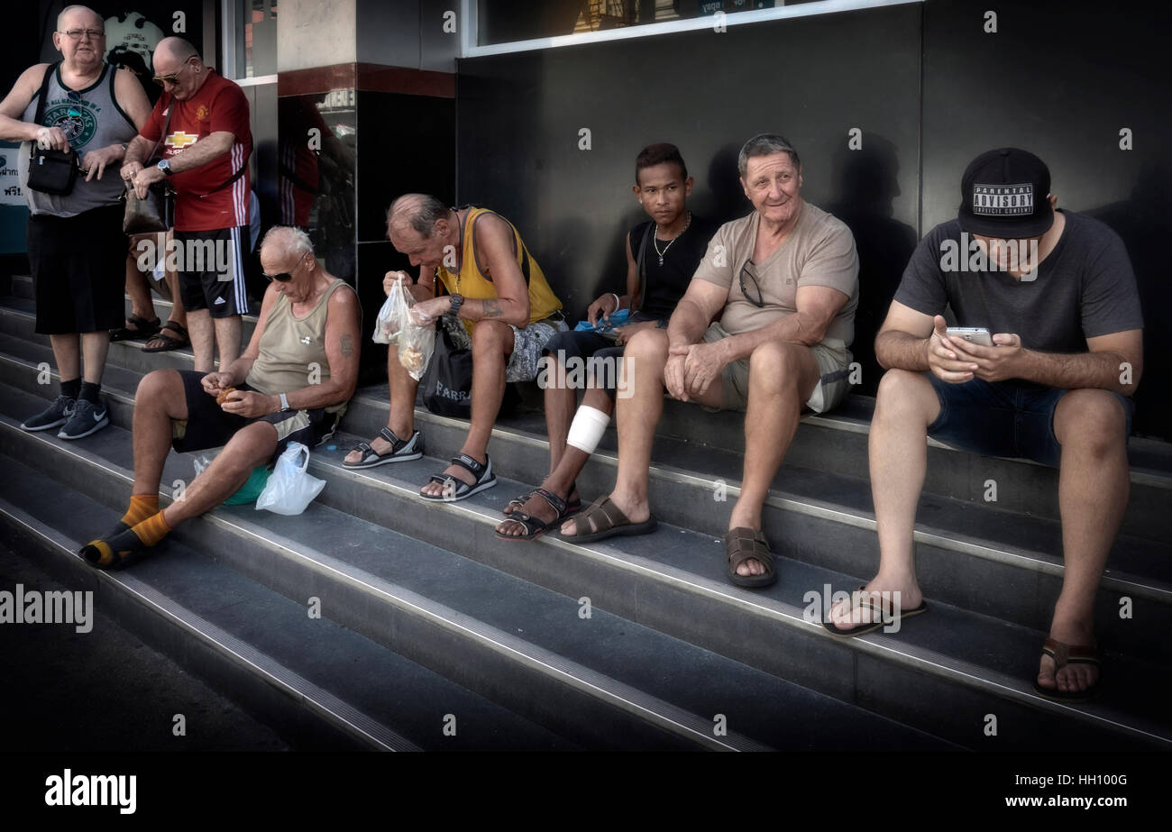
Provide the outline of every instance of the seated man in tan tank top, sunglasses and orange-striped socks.
[[[236,493],[289,442],[313,448],[338,428],[357,383],[357,295],[326,271],[299,229],[272,229],[260,244],[260,265],[271,282],[244,355],[217,373],[155,370],[138,384],[130,506],[81,551],[97,568],[132,562],[176,525]],[[170,448],[219,445],[224,450],[183,499],[159,511]]]

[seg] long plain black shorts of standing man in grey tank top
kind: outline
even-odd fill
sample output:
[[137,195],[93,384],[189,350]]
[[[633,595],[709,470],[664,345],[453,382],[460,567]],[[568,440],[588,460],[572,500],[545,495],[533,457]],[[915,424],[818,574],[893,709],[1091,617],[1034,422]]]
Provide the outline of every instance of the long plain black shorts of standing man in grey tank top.
[[74,217],[29,216],[25,237],[36,298],[38,333],[93,333],[123,325],[124,213],[120,203]]

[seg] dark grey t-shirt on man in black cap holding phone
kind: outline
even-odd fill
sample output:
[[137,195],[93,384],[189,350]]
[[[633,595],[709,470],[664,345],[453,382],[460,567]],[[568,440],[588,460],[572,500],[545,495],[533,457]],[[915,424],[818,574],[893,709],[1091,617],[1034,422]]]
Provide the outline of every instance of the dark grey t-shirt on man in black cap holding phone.
[[920,240],[894,299],[926,315],[943,314],[949,304],[958,326],[1014,333],[1023,347],[1045,353],[1085,353],[1089,337],[1142,329],[1136,275],[1123,240],[1097,219],[1062,213],[1067,226],[1034,280],[954,268],[955,259],[945,259],[949,240],[968,264],[973,260],[963,253],[969,238],[952,220]]

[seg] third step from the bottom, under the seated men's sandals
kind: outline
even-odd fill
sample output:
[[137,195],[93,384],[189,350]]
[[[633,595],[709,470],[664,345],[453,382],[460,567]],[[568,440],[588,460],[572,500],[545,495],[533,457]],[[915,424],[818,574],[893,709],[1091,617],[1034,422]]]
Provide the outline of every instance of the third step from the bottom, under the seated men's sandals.
[[[35,404],[16,390],[6,398],[22,407]],[[52,437],[18,434],[11,416],[4,422],[5,441],[35,442],[42,451],[61,448],[89,464],[89,473],[77,476],[79,487],[115,493],[98,476],[115,463],[93,459],[76,443],[64,448]],[[121,453],[129,464],[124,441],[101,444],[102,459]],[[414,497],[417,482],[425,479],[424,471],[437,470],[437,461],[341,471],[338,461],[346,444],[314,453],[312,470],[329,482],[319,497],[323,505],[560,592],[571,605],[574,598],[587,596],[595,611],[653,627],[948,742],[992,748],[982,731],[987,714],[996,715],[1002,727],[997,748],[1166,746],[1172,741],[1163,698],[1156,695],[1159,682],[1168,681],[1168,669],[1112,649],[1126,645],[1104,645],[1108,693],[1103,703],[1057,705],[1034,695],[1028,682],[1043,633],[932,599],[932,613],[899,633],[839,641],[803,614],[810,603],[808,591],[820,593],[825,585],[852,588],[851,579],[839,573],[782,559],[778,586],[757,593],[740,591],[723,580],[718,541],[674,527],[588,547],[550,537],[536,544],[500,541],[491,530],[500,505],[518,487],[516,482],[461,503],[423,506]],[[55,463],[46,458],[43,464]],[[179,476],[169,470],[164,479]],[[222,509],[216,514],[232,511]],[[287,543],[281,546],[289,547]],[[246,560],[272,571],[257,558]],[[948,705],[924,708],[925,701]]]

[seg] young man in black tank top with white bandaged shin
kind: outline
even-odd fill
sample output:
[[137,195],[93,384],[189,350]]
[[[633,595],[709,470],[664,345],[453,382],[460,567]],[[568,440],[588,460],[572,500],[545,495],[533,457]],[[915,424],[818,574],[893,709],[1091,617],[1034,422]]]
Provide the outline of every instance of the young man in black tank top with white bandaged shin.
[[[545,370],[538,383],[545,389],[550,476],[505,507],[509,519],[497,526],[497,537],[534,540],[581,507],[574,478],[598,446],[614,409],[625,345],[640,329],[667,326],[715,231],[687,209],[691,182],[674,144],[653,144],[635,159],[632,191],[650,220],[636,225],[624,240],[626,293],[607,292],[586,312],[595,325],[629,309],[629,322],[615,326],[609,336],[588,330],[560,333],[545,346],[548,357],[543,359]],[[578,408],[581,382],[587,389]]]

